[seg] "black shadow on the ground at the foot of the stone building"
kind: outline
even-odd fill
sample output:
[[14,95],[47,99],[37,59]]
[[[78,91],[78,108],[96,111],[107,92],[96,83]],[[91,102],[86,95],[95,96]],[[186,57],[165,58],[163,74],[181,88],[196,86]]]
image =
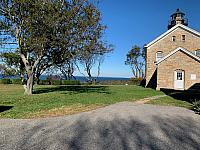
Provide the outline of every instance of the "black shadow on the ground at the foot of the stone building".
[[177,91],[177,90],[172,90],[172,89],[161,89],[161,91],[174,99],[186,101],[189,103],[192,103],[195,100],[200,100],[199,90]]

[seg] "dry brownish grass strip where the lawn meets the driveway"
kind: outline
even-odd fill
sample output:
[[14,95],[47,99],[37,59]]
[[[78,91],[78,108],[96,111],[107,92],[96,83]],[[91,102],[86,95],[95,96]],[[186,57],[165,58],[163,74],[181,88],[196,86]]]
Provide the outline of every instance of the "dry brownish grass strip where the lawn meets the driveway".
[[106,105],[76,105],[69,107],[54,108],[50,110],[40,111],[30,114],[31,119],[33,118],[47,118],[47,117],[58,117],[64,115],[72,115],[80,112],[87,112],[96,110],[98,108],[105,107]]

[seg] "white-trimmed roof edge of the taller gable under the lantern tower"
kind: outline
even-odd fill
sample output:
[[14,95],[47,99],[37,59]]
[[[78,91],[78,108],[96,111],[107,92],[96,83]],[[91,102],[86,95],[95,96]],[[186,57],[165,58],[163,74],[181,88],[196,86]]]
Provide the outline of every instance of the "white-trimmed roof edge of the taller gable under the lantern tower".
[[177,24],[177,25],[175,25],[174,27],[172,27],[171,29],[169,29],[167,32],[161,34],[161,35],[160,35],[159,37],[157,37],[155,40],[153,40],[152,42],[150,42],[149,44],[147,44],[145,47],[146,47],[146,48],[147,48],[147,47],[150,47],[151,45],[155,44],[156,42],[158,42],[159,40],[161,40],[162,38],[164,38],[164,37],[165,37],[166,35],[168,35],[169,33],[175,31],[177,28],[182,28],[182,29],[184,29],[184,30],[186,30],[186,31],[189,31],[190,33],[193,33],[193,34],[195,34],[195,35],[197,35],[197,36],[200,37],[200,33],[199,33],[198,31],[195,31],[195,30],[193,30],[193,29],[191,29],[191,28],[189,28],[189,27],[187,27],[187,26],[185,26],[185,25],[183,25],[183,24]]

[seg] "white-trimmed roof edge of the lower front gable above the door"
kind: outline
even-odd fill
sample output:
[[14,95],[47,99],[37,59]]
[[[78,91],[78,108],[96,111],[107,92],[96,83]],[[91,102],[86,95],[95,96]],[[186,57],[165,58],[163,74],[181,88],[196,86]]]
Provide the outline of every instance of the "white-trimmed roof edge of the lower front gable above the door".
[[191,53],[190,51],[188,51],[188,50],[186,50],[186,49],[184,49],[184,48],[182,48],[182,47],[178,47],[177,49],[175,49],[174,51],[172,51],[171,53],[169,53],[168,55],[166,55],[165,57],[163,57],[162,59],[160,59],[160,60],[156,63],[156,65],[158,65],[158,64],[161,63],[162,61],[166,60],[166,59],[169,58],[170,56],[174,55],[174,54],[175,54],[176,52],[178,52],[178,51],[182,51],[182,52],[186,53],[188,56],[190,56],[191,58],[193,58],[193,59],[195,59],[195,60],[197,60],[197,61],[200,62],[200,57],[194,55],[193,53]]

